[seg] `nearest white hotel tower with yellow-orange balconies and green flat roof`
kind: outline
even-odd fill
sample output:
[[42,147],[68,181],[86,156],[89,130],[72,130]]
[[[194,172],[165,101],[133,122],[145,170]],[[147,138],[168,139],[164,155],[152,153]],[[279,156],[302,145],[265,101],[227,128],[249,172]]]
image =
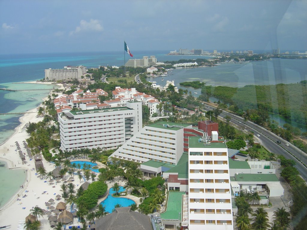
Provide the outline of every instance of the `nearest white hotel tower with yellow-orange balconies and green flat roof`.
[[233,230],[228,151],[223,137],[188,140],[189,229]]

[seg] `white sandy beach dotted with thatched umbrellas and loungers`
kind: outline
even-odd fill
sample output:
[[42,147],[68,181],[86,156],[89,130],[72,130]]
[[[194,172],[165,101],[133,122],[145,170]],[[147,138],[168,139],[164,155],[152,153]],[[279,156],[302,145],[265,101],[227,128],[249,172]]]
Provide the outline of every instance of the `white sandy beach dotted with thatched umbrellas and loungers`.
[[[29,83],[41,83],[41,82],[29,82]],[[48,83],[50,84],[50,83]],[[26,123],[30,122],[38,122],[43,119],[43,117],[36,117],[37,116],[37,108],[31,109],[27,112],[32,113],[26,113],[24,116],[22,116],[19,120],[21,122],[21,125],[15,128],[14,134],[6,140],[3,144],[0,145],[0,159],[5,160],[7,162],[7,165],[9,168],[21,167],[24,170],[27,170],[27,182],[24,183],[24,187],[18,191],[17,194],[12,194],[12,198],[10,201],[4,205],[0,209],[0,225],[9,225],[11,224],[11,228],[13,230],[16,230],[18,228],[18,225],[20,225],[19,221],[24,221],[25,217],[29,215],[30,209],[38,205],[42,209],[46,209],[45,202],[49,201],[50,198],[56,200],[56,195],[60,194],[60,186],[63,183],[60,181],[57,184],[49,185],[48,181],[44,177],[44,179],[40,179],[38,175],[35,175],[36,170],[31,171],[31,169],[35,168],[34,160],[29,160],[29,157],[26,155],[26,163],[21,164],[21,159],[19,157],[19,154],[16,149],[16,143],[15,141],[18,141],[21,147],[21,151],[26,152],[26,149],[24,148],[22,141],[29,138],[29,134],[25,132],[24,129],[22,129]],[[11,147],[14,146],[14,147]],[[7,151],[7,148],[9,151]],[[19,164],[18,164],[19,163]],[[100,163],[101,164],[101,163]],[[49,164],[44,158],[43,158],[43,165],[46,169],[46,172],[52,171],[54,169],[54,164]],[[99,165],[100,166],[100,165]],[[14,170],[14,169],[11,169]],[[68,179],[70,175],[66,174],[66,178]],[[79,188],[79,186],[84,183],[84,180],[81,180],[81,184],[79,181],[79,178],[75,175],[75,181],[72,182],[75,184],[76,189]],[[54,181],[55,182],[55,181]],[[91,179],[90,181],[91,182]],[[115,181],[117,182],[117,181]],[[110,188],[113,183],[107,183],[108,188]],[[124,185],[123,181],[118,181],[121,185]],[[25,191],[28,191],[25,193]],[[45,192],[46,191],[46,192]],[[45,192],[45,193],[44,193]],[[23,198],[23,195],[27,195]],[[19,196],[18,196],[19,195]],[[17,201],[17,198],[21,199],[20,201]],[[104,198],[104,197],[103,197]],[[137,204],[139,204],[139,198],[134,197],[131,195],[128,195],[127,198],[133,199]],[[64,202],[64,199],[61,198],[60,201]],[[55,201],[52,206],[56,207],[57,203],[60,201]],[[101,200],[100,200],[101,202]],[[67,205],[67,210],[70,211],[69,205]],[[54,214],[54,213],[52,213]],[[52,229],[49,225],[48,217],[44,215],[43,217],[40,217],[39,220],[41,221],[41,229],[47,230]],[[76,225],[76,219],[74,219],[74,224]],[[77,224],[80,225],[80,224]]]

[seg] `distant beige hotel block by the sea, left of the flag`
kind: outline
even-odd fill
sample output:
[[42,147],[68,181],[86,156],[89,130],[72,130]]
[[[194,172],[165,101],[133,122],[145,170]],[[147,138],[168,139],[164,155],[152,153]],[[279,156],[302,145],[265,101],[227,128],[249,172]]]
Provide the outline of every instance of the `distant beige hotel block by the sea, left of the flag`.
[[81,79],[86,74],[85,66],[64,66],[63,69],[45,69],[46,81],[62,81],[66,79]]

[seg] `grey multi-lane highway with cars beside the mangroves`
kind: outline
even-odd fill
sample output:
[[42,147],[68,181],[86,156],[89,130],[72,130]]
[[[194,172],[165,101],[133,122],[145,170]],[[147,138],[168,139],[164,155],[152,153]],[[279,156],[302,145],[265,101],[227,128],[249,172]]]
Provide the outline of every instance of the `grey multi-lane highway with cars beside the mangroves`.
[[[210,105],[205,105],[205,107],[206,107],[206,110],[215,109],[215,107],[210,106]],[[261,143],[268,151],[273,152],[275,154],[283,155],[287,159],[294,160],[296,163],[295,167],[297,168],[298,172],[301,174],[302,178],[306,180],[307,168],[302,164],[304,163],[305,165],[307,165],[307,154],[305,152],[301,151],[299,148],[297,148],[290,142],[280,138],[275,133],[270,132],[266,128],[263,128],[260,125],[257,125],[251,121],[245,122],[243,117],[239,117],[237,115],[235,115],[234,117],[233,115],[234,114],[223,110],[223,112],[220,114],[219,117],[220,118],[224,118],[226,116],[231,117],[230,122],[234,124],[235,126],[237,126],[237,128],[241,128],[242,130],[245,130],[245,131],[249,131],[249,130],[253,131],[256,142]],[[260,137],[256,136],[257,134],[259,134]],[[278,140],[281,141],[281,144],[277,144],[276,141]],[[288,143],[289,146],[286,146],[286,143]],[[302,163],[300,162],[300,160]]]

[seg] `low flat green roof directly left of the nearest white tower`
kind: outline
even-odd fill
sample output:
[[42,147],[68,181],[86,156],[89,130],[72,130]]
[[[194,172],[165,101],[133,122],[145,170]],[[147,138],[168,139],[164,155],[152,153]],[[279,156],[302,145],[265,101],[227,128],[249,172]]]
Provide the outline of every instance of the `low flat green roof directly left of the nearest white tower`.
[[167,207],[164,213],[161,213],[163,220],[181,220],[182,195],[184,192],[169,192]]

